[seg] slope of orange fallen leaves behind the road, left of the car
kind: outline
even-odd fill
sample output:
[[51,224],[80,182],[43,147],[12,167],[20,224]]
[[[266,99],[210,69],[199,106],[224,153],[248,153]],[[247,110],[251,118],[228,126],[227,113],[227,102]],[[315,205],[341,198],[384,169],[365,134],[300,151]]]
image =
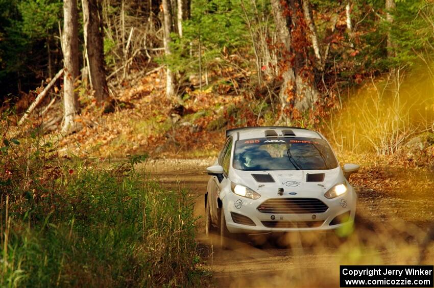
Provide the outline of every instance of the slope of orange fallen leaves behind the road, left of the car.
[[218,95],[212,89],[192,91],[176,106],[164,94],[163,76],[160,71],[127,82],[116,97],[114,113],[101,114],[83,98],[85,107],[75,119],[77,130],[58,142],[60,151],[104,159],[140,153],[198,158],[218,151],[225,140],[221,137],[225,113],[242,97]]

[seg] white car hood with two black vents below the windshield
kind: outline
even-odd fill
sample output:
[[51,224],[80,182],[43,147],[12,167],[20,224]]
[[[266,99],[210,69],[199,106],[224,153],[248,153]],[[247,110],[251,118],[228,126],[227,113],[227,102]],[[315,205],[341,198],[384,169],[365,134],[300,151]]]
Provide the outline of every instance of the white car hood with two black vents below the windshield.
[[[302,196],[308,192],[325,193],[331,187],[345,181],[340,167],[330,170],[278,170],[278,171],[243,171],[232,169],[229,179],[236,183],[249,187],[259,194],[277,195],[279,188],[283,188],[285,194],[296,193]],[[309,175],[308,175],[309,174]],[[259,175],[259,176],[257,176]],[[274,182],[264,182],[271,180]],[[295,194],[294,194],[295,195]]]

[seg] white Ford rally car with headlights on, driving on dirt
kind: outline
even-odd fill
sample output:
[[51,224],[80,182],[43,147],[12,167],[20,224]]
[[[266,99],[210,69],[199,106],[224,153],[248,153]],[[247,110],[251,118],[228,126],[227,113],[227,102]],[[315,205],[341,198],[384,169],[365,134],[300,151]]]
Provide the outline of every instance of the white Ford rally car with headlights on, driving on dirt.
[[226,144],[205,194],[206,233],[263,234],[336,229],[354,220],[356,193],[348,182],[359,166],[339,166],[320,133],[296,127],[226,131]]

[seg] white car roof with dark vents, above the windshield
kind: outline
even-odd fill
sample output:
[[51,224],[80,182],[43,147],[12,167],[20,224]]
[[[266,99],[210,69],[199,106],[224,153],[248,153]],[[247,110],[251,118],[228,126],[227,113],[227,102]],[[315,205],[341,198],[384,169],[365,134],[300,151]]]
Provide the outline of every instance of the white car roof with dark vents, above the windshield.
[[238,134],[238,137],[235,137],[235,139],[238,140],[265,137],[305,137],[319,139],[323,138],[316,131],[290,126],[240,127],[226,130],[226,137],[235,134]]

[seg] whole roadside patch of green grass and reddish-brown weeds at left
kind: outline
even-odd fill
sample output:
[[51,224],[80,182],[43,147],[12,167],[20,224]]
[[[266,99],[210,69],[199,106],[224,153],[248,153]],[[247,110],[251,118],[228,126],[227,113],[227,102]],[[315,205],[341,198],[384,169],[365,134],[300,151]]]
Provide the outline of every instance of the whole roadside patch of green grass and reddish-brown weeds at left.
[[3,135],[0,286],[203,281],[194,199],[136,172],[146,156],[101,165],[60,158],[36,135],[19,142]]

